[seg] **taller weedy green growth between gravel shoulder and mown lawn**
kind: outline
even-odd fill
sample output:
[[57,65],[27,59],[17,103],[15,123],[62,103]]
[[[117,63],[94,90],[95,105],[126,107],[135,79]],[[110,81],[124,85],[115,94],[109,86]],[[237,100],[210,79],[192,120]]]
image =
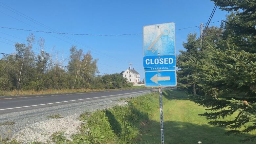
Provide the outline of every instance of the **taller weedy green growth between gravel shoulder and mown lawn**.
[[152,111],[153,95],[131,98],[126,106],[84,113],[81,133],[73,136],[75,143],[133,143],[140,132],[140,122],[147,121]]

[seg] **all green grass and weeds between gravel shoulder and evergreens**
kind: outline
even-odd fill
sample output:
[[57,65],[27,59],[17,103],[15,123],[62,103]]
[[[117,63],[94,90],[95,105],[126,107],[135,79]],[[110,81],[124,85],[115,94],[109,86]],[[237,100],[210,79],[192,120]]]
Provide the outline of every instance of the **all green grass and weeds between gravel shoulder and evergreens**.
[[[111,109],[83,113],[79,119],[85,121],[80,132],[69,141],[64,132],[52,135],[57,144],[160,144],[159,93],[149,93],[127,98],[128,105]],[[198,106],[189,96],[179,90],[163,91],[164,141],[166,144],[254,144],[240,142],[249,134],[227,136],[229,129],[209,125],[204,113],[205,107]],[[231,115],[225,120],[234,118]],[[242,128],[241,128],[242,129]],[[1,142],[1,141],[0,141]],[[14,141],[16,142],[16,141]]]

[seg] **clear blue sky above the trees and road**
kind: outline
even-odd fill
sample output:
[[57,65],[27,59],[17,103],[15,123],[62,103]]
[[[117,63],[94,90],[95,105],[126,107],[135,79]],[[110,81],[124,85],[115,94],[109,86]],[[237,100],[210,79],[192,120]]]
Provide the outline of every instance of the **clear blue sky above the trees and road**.
[[[207,22],[214,7],[214,3],[210,0],[2,0],[1,2],[55,31],[83,34],[136,34],[142,33],[145,25],[168,22],[174,22],[176,29],[199,26],[201,22]],[[0,5],[3,4],[0,3]],[[12,11],[0,6],[1,27],[50,31]],[[226,14],[228,14],[226,11],[217,8],[211,22],[224,20]],[[220,26],[220,24],[218,22],[210,26]],[[182,42],[186,41],[187,34],[190,32],[199,34],[200,29],[196,27],[176,31],[177,54],[179,50],[183,50]],[[26,40],[30,33],[0,28],[0,52],[13,53],[12,45],[15,42],[26,43],[21,39]],[[60,51],[64,52],[63,57],[68,57],[69,48],[77,45],[84,52],[90,50],[93,57],[99,59],[100,72],[119,73],[126,70],[131,62],[132,67],[141,74],[141,80],[144,77],[141,34],[63,36],[33,33],[36,39],[43,37],[46,40],[45,51],[50,52],[50,48],[55,46],[54,50],[59,51],[59,59],[62,56]],[[34,49],[36,48],[38,45],[34,45]],[[57,51],[53,51],[54,55],[57,55]],[[35,52],[38,51],[35,50]]]

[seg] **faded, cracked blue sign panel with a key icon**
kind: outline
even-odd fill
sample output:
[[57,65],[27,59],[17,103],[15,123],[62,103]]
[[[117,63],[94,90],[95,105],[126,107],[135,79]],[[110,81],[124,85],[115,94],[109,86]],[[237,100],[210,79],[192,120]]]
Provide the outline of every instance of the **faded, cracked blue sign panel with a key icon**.
[[174,23],[143,27],[144,56],[175,54]]

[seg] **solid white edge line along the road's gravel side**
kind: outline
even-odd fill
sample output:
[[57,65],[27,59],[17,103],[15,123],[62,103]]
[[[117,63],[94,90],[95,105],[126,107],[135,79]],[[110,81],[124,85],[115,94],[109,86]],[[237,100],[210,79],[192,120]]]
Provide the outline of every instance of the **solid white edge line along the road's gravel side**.
[[[152,91],[152,90],[147,90],[147,91]],[[145,92],[145,91],[140,91],[140,92]],[[139,93],[139,92],[133,92],[133,93]],[[130,94],[130,93],[122,93],[122,94]],[[115,95],[122,95],[122,94],[115,94]],[[57,104],[57,103],[64,103],[64,102],[71,102],[71,101],[78,101],[78,100],[85,100],[85,99],[93,99],[93,98],[100,98],[100,97],[108,97],[108,96],[115,96],[115,95],[106,95],[106,96],[83,98],[83,99],[76,99],[76,100],[68,100],[68,101],[61,101],[61,102],[54,102],[54,103],[47,103],[47,104],[39,104],[39,105],[31,105],[31,106],[23,106],[23,107],[14,107],[14,108],[0,109],[0,111],[2,111],[2,110],[10,110],[10,109],[18,109],[18,108],[26,108],[26,107],[34,107],[34,106],[42,106],[42,105],[50,105],[50,104]]]

